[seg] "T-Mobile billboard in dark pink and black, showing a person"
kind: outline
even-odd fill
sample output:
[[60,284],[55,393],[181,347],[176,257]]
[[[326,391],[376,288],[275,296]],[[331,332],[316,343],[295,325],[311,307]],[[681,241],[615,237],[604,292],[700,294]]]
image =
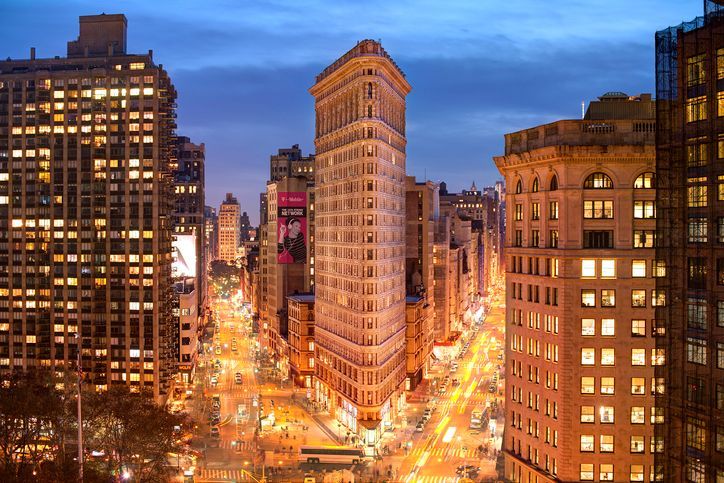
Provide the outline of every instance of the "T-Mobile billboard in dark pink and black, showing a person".
[[307,262],[307,193],[277,194],[277,263]]

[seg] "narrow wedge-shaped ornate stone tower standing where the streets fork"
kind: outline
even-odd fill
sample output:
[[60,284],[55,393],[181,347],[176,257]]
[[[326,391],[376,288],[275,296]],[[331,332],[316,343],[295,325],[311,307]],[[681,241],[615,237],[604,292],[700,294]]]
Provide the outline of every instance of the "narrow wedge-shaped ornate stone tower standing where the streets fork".
[[315,397],[374,446],[404,404],[405,96],[372,40],[324,69],[316,110]]

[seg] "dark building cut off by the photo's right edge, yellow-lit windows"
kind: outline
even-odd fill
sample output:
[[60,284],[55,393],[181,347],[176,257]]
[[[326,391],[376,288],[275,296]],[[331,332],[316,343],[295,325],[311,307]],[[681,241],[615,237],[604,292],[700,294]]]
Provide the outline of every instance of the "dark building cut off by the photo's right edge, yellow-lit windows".
[[724,5],[656,33],[664,481],[724,481]]

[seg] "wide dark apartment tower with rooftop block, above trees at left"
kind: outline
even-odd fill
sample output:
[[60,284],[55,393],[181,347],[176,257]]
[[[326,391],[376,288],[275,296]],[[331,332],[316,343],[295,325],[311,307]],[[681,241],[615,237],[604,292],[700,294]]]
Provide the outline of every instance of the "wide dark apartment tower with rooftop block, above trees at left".
[[[75,367],[163,399],[174,369],[176,92],[123,15],[0,62],[0,370]],[[12,255],[11,255],[12,253]]]

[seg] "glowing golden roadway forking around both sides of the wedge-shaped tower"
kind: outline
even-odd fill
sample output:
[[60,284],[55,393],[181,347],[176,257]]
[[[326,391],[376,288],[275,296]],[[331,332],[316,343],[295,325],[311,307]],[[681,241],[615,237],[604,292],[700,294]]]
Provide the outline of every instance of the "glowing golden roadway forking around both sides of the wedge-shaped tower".
[[[212,310],[213,334],[209,330],[204,340],[197,374],[194,447],[203,456],[194,481],[254,481],[262,477],[262,467],[270,481],[301,481],[305,474],[322,481],[325,471],[337,468],[324,464],[300,468],[299,446],[343,444],[340,428],[327,413],[308,407],[304,391],[292,389],[288,382],[258,382],[257,342],[245,309],[217,299]],[[504,319],[503,301],[496,297],[479,330],[469,331],[452,361],[433,365],[429,380],[417,391],[422,394],[410,398],[400,427],[383,439],[382,459],[354,468],[361,475],[357,481],[437,483],[464,476],[474,481],[495,477],[503,430],[502,409],[496,407],[502,408],[503,403],[504,375],[499,368],[503,367]],[[465,344],[467,350],[458,357]],[[453,362],[457,368],[451,368]],[[445,393],[437,394],[443,384]],[[215,398],[220,403],[218,411],[214,411]],[[264,424],[255,435],[259,405],[264,408]],[[431,418],[417,431],[428,407]],[[474,410],[483,414],[477,428],[471,428]],[[212,419],[216,413],[218,420]],[[212,427],[218,428],[218,435],[211,433]],[[456,473],[460,465],[469,465],[467,474],[465,470]]]

